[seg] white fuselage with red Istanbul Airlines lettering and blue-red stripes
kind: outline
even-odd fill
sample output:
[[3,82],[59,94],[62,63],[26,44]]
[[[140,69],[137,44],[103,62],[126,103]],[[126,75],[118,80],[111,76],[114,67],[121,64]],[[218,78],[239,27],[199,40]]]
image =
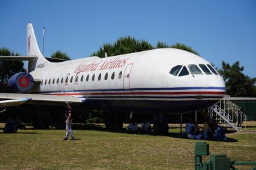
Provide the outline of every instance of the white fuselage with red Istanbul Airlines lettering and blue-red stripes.
[[[177,65],[185,66],[189,74],[170,74]],[[189,65],[210,63],[174,48],[46,62],[30,72],[42,80],[32,93],[73,95],[89,108],[172,113],[206,108],[220,100],[226,92],[222,77],[212,71],[205,74],[200,67],[200,74],[192,74]]]

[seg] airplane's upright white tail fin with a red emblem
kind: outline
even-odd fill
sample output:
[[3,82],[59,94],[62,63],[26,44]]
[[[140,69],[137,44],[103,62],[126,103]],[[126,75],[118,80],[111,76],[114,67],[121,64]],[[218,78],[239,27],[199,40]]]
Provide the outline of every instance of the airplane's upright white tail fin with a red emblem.
[[36,41],[36,35],[34,34],[34,29],[31,23],[27,26],[27,55],[37,56],[38,58],[28,62],[28,72],[34,71],[36,68],[42,68],[49,62],[42,56],[38,44]]

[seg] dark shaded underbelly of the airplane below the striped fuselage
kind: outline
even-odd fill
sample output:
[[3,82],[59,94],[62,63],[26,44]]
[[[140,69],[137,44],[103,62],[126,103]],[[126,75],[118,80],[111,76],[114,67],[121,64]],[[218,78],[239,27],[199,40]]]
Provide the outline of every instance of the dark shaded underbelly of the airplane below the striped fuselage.
[[160,101],[160,100],[106,100],[106,99],[88,99],[86,105],[93,109],[117,110],[123,112],[152,112],[177,114],[191,112],[201,108],[208,108],[218,100],[189,100],[189,101]]

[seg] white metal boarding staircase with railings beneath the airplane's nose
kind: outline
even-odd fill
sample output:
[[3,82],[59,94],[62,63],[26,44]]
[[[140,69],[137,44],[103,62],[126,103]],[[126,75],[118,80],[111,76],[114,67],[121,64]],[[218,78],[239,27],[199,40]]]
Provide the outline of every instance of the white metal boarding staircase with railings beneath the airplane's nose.
[[[247,116],[241,111],[238,105],[228,100],[221,100],[210,108],[210,116],[212,120],[218,124],[239,132],[242,130],[242,122],[246,129]],[[240,126],[238,126],[238,122]]]

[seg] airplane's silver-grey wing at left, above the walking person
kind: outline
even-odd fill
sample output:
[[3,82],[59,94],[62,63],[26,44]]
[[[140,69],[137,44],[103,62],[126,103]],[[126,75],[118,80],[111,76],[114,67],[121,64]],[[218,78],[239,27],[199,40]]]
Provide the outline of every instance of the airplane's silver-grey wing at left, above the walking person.
[[0,93],[0,99],[7,102],[8,99],[30,99],[26,103],[36,105],[65,105],[66,101],[71,101],[72,105],[81,105],[83,101],[70,95],[41,95],[41,94],[21,94],[21,93]]

